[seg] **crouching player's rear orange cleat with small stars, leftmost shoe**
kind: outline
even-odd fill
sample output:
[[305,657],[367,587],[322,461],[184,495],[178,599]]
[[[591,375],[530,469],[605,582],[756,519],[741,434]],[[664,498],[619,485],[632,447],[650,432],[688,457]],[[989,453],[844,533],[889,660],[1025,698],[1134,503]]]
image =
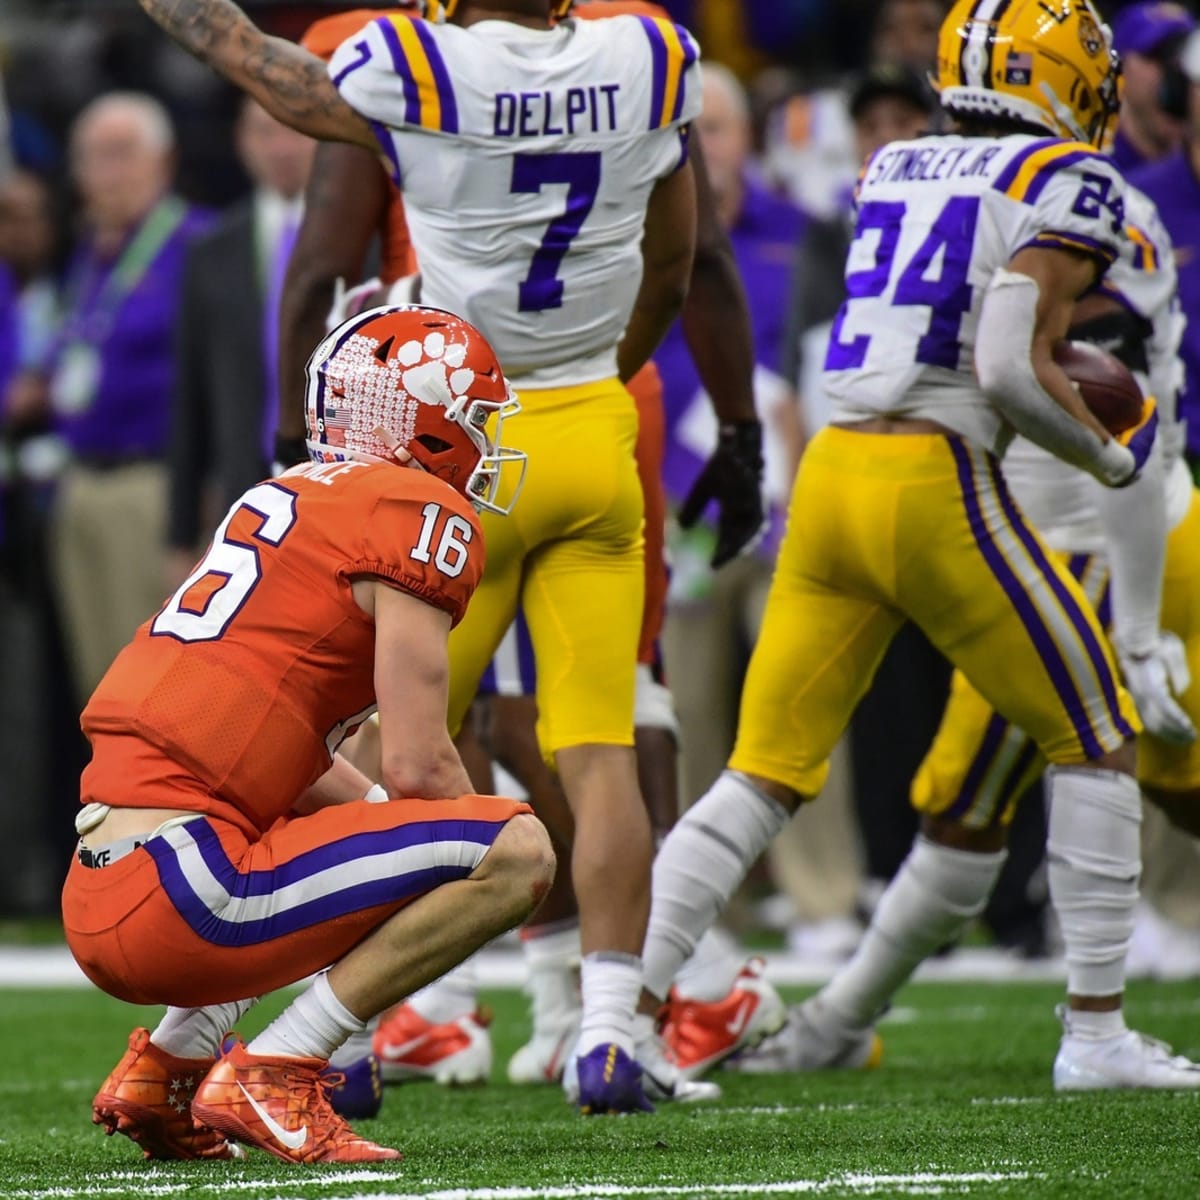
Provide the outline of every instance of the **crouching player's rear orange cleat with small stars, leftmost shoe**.
[[109,1136],[125,1134],[146,1158],[244,1158],[240,1146],[192,1121],[192,1097],[214,1062],[176,1058],[137,1028],[91,1102],[91,1120]]

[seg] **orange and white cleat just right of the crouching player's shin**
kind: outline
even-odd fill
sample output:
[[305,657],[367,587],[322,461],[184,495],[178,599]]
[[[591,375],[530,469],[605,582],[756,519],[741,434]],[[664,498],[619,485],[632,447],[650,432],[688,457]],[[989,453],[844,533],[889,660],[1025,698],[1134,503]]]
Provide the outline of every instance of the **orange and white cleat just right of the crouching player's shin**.
[[492,1070],[492,1038],[486,1009],[443,1025],[425,1020],[412,1004],[386,1012],[373,1049],[385,1084],[432,1079],[438,1084],[484,1084]]

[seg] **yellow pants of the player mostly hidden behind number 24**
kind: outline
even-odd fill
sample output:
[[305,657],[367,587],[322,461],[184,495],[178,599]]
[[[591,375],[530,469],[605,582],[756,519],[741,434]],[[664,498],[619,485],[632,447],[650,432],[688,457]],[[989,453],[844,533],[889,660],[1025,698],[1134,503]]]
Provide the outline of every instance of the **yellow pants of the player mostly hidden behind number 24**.
[[[1063,557],[1108,624],[1106,565],[1090,554]],[[1200,492],[1192,493],[1187,516],[1166,542],[1162,624],[1187,647],[1192,686],[1178,701],[1200,726]],[[1030,737],[994,712],[956,671],[937,737],[913,778],[912,803],[973,829],[1008,824],[1016,802],[1044,769]],[[1171,745],[1144,733],[1138,779],[1169,792],[1200,787],[1200,743]]]

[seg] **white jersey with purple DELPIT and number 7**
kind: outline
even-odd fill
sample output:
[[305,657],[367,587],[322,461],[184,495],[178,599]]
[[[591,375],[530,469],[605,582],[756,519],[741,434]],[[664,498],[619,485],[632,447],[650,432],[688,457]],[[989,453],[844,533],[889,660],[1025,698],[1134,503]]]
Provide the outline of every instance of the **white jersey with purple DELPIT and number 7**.
[[466,29],[380,16],[330,76],[404,192],[421,302],[526,386],[617,373],[654,185],[686,157],[698,50],[650,17]]

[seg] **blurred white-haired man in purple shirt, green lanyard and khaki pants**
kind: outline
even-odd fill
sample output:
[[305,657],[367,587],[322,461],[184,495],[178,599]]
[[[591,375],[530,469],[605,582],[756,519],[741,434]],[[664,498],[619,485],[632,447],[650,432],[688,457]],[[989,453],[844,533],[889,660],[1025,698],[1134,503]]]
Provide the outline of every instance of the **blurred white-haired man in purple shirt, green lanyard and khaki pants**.
[[110,92],[71,131],[84,234],[48,397],[71,452],[53,559],[77,697],[162,601],[172,334],[184,247],[206,218],[172,194],[174,134],[149,96]]

